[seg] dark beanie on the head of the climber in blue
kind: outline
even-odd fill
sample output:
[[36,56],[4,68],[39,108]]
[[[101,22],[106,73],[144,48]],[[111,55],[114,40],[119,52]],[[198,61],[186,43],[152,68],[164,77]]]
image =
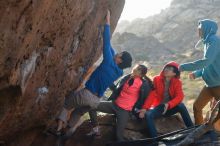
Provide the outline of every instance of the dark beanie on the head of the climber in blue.
[[123,51],[122,56],[121,56],[121,60],[122,60],[122,63],[118,64],[120,69],[125,69],[128,67],[131,67],[132,57],[131,57],[130,53],[128,53],[127,51]]

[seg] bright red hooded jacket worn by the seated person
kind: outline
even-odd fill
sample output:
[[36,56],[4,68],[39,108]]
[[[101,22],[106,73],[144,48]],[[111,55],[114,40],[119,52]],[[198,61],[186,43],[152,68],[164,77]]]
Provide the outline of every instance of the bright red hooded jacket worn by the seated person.
[[[169,62],[168,64],[165,65],[165,67],[169,66],[174,66],[174,67],[179,67],[179,65],[176,62]],[[165,68],[164,67],[164,68]],[[164,69],[163,69],[164,70]],[[168,102],[168,109],[172,109],[178,104],[180,104],[183,100],[184,94],[182,90],[182,82],[179,79],[180,77],[174,77],[170,81],[170,87],[169,87],[169,93],[171,100]],[[144,109],[151,109],[156,106],[158,106],[164,98],[164,79],[165,77],[163,76],[163,71],[160,73],[160,75],[155,76],[153,83],[154,83],[154,90],[151,91],[149,96],[146,98],[145,103],[143,105]]]

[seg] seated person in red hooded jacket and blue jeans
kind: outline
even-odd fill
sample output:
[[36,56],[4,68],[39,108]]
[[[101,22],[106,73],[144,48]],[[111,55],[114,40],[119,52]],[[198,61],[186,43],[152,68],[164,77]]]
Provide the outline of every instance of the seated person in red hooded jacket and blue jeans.
[[180,113],[187,127],[193,126],[189,113],[182,102],[184,94],[180,81],[179,65],[169,62],[160,75],[154,77],[154,90],[146,98],[139,117],[146,118],[149,134],[157,136],[154,119]]

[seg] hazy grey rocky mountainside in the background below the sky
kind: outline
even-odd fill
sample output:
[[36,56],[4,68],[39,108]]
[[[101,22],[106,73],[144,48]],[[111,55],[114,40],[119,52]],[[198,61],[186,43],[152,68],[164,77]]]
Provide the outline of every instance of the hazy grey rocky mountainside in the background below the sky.
[[[156,65],[198,59],[203,54],[202,48],[194,48],[199,40],[198,20],[214,19],[220,25],[219,6],[219,0],[173,0],[157,15],[119,23],[113,46],[135,52],[137,61]],[[136,39],[130,39],[131,35]]]

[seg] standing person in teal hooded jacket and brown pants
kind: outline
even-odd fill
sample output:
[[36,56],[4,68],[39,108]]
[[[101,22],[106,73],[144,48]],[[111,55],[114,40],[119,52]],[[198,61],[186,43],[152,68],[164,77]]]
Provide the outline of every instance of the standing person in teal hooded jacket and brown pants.
[[[204,57],[194,62],[180,65],[180,71],[193,71],[190,79],[202,77],[205,86],[193,104],[195,124],[204,124],[203,108],[214,97],[220,100],[220,38],[216,36],[217,23],[213,20],[200,20],[198,24],[199,37],[204,45]],[[199,42],[197,44],[199,44]],[[197,46],[197,45],[196,45]],[[220,110],[214,121],[220,119]]]

